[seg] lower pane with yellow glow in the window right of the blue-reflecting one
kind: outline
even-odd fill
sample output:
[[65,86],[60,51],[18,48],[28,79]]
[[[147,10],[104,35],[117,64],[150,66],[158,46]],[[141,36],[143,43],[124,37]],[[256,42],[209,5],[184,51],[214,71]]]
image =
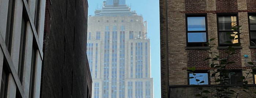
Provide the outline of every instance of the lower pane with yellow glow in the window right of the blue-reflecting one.
[[[237,32],[233,32],[233,33],[237,33]],[[234,34],[232,34],[232,36],[234,36]],[[231,41],[231,39],[229,38],[230,35],[226,34],[226,32],[220,32],[219,33],[219,44],[228,44],[225,43],[225,41]],[[237,38],[237,35],[235,36],[235,38]],[[231,41],[234,43],[238,43],[238,39],[235,39],[234,41]]]

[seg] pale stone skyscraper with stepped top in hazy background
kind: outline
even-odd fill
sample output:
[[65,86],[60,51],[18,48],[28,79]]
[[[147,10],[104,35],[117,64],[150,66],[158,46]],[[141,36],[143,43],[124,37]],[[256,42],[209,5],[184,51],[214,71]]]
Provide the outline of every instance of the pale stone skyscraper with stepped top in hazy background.
[[105,0],[88,19],[92,98],[153,98],[146,21],[125,0]]

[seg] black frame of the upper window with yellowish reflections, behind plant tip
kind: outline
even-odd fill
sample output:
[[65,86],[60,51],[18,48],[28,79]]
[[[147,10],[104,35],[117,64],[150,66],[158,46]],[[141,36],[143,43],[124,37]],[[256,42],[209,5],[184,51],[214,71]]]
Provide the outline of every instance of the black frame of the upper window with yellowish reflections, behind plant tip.
[[[219,33],[220,32],[237,32],[239,33],[239,30],[219,30],[219,16],[236,16],[236,19],[237,19],[237,25],[236,26],[239,26],[239,19],[238,19],[238,13],[218,13],[216,14],[216,18],[217,18],[217,33],[218,33],[218,46],[231,46],[232,44],[220,44],[220,38],[219,38]],[[240,35],[238,35],[239,37]],[[229,41],[229,40],[227,40]],[[240,42],[240,39],[238,39],[238,43]]]

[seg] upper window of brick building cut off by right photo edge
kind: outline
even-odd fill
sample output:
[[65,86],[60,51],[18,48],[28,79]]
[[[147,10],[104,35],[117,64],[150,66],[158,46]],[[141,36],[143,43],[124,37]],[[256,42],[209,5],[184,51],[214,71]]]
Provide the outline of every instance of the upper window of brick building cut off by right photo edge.
[[256,46],[256,13],[248,15],[249,32],[250,32],[250,45]]

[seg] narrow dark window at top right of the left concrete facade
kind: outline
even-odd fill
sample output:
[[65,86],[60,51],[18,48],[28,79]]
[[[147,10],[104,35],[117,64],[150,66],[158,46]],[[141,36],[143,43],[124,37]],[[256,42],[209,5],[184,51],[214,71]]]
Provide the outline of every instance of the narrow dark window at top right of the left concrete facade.
[[36,0],[36,5],[35,5],[35,16],[34,16],[34,25],[36,27],[36,31],[38,34],[38,22],[39,22],[39,12],[40,12],[40,0]]

